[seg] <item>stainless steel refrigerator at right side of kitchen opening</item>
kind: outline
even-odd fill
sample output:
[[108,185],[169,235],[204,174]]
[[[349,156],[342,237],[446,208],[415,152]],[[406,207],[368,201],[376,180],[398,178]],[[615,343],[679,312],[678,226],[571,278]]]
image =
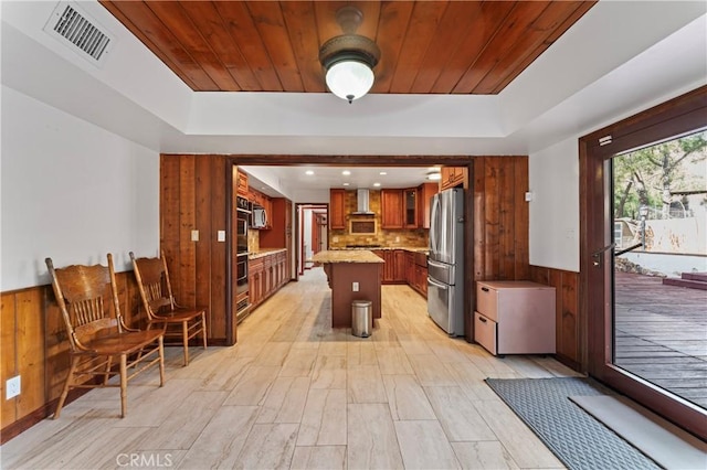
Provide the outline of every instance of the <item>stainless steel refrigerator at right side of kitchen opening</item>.
[[451,337],[464,334],[464,190],[432,196],[428,313]]

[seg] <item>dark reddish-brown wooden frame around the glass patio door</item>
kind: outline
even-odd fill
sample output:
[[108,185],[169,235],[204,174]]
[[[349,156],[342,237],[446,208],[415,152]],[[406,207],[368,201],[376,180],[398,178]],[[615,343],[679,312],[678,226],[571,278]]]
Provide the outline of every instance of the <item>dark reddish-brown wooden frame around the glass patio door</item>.
[[[662,388],[612,364],[613,267],[610,159],[707,126],[707,86],[623,119],[579,140],[580,314],[588,332],[582,363],[590,375],[655,413],[707,439],[705,414],[694,404],[667,398]],[[610,224],[610,225],[608,225]],[[594,266],[594,263],[600,266]]]

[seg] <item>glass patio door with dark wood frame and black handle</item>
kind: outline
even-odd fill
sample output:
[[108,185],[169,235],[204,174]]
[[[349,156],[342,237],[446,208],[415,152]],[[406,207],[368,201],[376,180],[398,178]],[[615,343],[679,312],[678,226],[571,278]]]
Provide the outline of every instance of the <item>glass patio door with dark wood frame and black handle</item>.
[[580,139],[588,371],[703,439],[706,111],[703,87]]

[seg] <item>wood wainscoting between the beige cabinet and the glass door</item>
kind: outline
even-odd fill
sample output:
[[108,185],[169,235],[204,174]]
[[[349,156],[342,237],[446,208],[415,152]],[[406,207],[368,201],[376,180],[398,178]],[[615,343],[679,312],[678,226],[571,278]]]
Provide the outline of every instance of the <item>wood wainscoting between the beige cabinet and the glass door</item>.
[[530,266],[529,279],[555,287],[556,359],[574,371],[585,372],[582,351],[587,331],[579,313],[579,273]]

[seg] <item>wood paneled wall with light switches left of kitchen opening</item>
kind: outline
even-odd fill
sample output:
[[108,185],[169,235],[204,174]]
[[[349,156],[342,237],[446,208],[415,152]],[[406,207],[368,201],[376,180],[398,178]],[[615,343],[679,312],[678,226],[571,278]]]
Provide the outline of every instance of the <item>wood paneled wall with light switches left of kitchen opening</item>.
[[[160,247],[179,303],[208,307],[209,341],[215,344],[226,340],[229,242],[217,236],[228,233],[231,167],[224,156],[160,157]],[[191,241],[191,231],[199,231],[199,242]]]

